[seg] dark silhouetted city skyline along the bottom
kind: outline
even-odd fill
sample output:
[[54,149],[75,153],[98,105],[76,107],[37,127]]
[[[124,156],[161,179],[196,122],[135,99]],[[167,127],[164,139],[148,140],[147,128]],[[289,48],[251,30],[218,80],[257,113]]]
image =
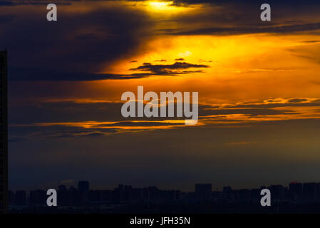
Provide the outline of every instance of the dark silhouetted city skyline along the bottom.
[[[271,192],[272,207],[262,207],[262,189]],[[257,189],[233,190],[223,187],[212,190],[212,184],[195,184],[195,191],[160,190],[158,187],[134,188],[118,185],[114,190],[91,190],[88,181],[78,187],[59,185],[58,207],[46,206],[46,190],[9,191],[9,209],[14,213],[28,212],[103,212],[103,213],[161,213],[161,212],[320,212],[320,183],[291,182],[262,186]]]

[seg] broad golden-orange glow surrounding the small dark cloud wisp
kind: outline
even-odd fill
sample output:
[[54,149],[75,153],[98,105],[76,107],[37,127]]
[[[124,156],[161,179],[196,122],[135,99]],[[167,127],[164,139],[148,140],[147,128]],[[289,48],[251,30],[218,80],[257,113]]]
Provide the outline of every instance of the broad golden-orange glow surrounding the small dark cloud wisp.
[[[318,45],[301,40],[316,39],[315,36],[273,36],[254,34],[242,36],[160,36],[148,43],[145,49],[130,59],[123,59],[114,65],[112,73],[133,73],[132,68],[143,63],[158,65],[180,62],[204,64],[202,73],[188,73],[170,77],[170,85],[160,83],[168,76],[150,76],[137,80],[125,81],[127,85],[148,85],[157,90],[187,90],[190,84],[197,86],[201,97],[233,98],[277,98],[277,97],[319,97],[314,88],[301,90],[301,83],[308,83],[306,78],[316,81],[319,64],[308,58],[296,56],[295,48]],[[130,62],[132,60],[134,62]],[[162,60],[161,62],[159,60]],[[274,61],[276,60],[276,61]],[[312,71],[310,69],[313,69]],[[105,71],[107,72],[107,70]],[[143,71],[134,73],[143,73]],[[304,78],[301,78],[304,75]],[[295,78],[294,80],[292,80]],[[110,81],[106,81],[110,84]],[[262,85],[265,86],[262,86]],[[311,83],[312,84],[312,83]],[[268,85],[268,86],[267,86]],[[172,86],[172,88],[167,88]],[[231,86],[231,87],[230,87]],[[270,90],[269,86],[273,89]],[[312,86],[312,85],[310,85]],[[215,89],[214,89],[215,88]],[[257,90],[259,88],[259,90]],[[159,88],[160,90],[160,88]],[[241,96],[237,94],[240,92]],[[300,91],[301,94],[296,94]]]

